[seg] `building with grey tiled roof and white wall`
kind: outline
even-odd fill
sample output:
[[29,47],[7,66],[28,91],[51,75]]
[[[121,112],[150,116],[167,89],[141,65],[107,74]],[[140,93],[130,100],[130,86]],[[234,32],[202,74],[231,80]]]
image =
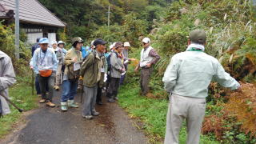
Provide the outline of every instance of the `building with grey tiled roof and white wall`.
[[[15,0],[0,0],[0,21],[14,22]],[[38,0],[19,0],[20,26],[28,37],[28,42],[35,43],[37,38],[49,38],[50,42],[56,40],[59,28],[65,23],[42,6]]]

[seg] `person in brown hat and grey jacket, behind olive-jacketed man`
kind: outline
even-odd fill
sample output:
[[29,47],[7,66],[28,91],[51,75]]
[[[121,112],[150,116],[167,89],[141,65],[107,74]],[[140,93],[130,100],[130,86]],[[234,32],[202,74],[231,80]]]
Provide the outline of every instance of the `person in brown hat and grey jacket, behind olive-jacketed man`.
[[107,89],[106,96],[108,102],[115,102],[118,100],[118,88],[120,85],[120,78],[122,74],[126,73],[126,68],[123,65],[122,50],[124,49],[122,42],[116,42],[115,50],[110,54],[110,83]]

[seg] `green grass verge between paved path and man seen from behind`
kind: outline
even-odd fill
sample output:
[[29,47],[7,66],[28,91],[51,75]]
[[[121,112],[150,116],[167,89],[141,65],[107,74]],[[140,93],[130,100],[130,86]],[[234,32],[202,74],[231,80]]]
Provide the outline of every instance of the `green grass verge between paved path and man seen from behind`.
[[[127,79],[126,79],[127,80]],[[129,81],[130,82],[130,81]],[[138,82],[130,82],[121,86],[118,92],[119,105],[126,109],[131,118],[139,118],[144,123],[142,129],[150,135],[150,142],[161,143],[166,131],[166,113],[168,101],[139,96]],[[186,126],[182,126],[180,143],[186,143]],[[201,135],[202,144],[217,144],[214,138]]]

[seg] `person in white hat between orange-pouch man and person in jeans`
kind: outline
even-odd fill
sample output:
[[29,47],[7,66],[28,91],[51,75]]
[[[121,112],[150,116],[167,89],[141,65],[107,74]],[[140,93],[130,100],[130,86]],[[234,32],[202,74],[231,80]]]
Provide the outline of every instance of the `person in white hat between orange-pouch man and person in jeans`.
[[56,79],[55,79],[54,89],[59,90],[59,86],[61,85],[61,82],[62,82],[61,75],[62,75],[62,65],[63,65],[63,60],[64,60],[64,53],[62,52],[62,49],[60,49],[57,46],[56,41],[52,42],[52,47],[54,49],[54,52],[56,54],[57,61],[58,61],[58,68],[57,68],[57,72],[56,72]]

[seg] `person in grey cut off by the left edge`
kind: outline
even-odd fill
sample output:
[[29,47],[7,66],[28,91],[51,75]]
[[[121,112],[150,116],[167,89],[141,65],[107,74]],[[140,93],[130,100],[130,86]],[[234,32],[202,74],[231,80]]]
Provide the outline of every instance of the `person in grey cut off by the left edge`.
[[16,82],[14,67],[10,57],[0,50],[0,117],[10,114],[10,107],[6,102],[8,97],[8,87]]

